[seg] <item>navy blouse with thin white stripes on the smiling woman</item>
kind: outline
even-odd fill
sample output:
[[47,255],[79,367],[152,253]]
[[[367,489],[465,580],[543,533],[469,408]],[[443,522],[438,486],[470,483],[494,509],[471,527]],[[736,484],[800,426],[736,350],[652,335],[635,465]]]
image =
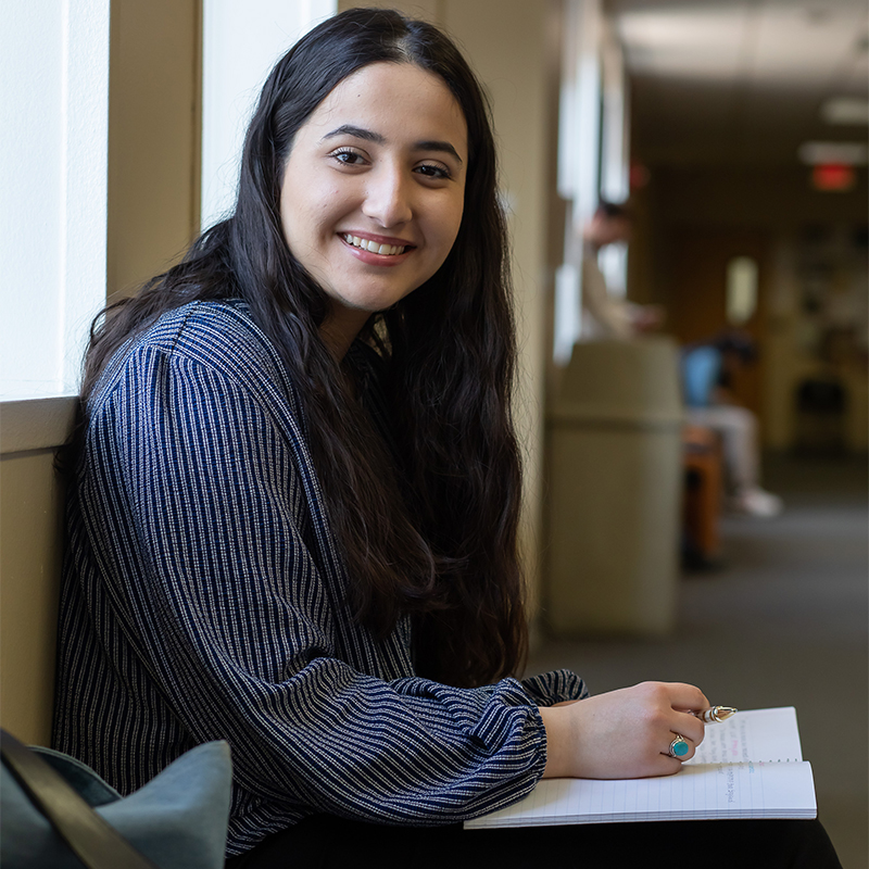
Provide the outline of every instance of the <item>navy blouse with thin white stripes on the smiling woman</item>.
[[70,496],[55,745],[123,793],[226,739],[228,853],[322,811],[436,824],[528,793],[559,671],[415,676],[344,604],[303,414],[242,303],[165,314],[110,363]]

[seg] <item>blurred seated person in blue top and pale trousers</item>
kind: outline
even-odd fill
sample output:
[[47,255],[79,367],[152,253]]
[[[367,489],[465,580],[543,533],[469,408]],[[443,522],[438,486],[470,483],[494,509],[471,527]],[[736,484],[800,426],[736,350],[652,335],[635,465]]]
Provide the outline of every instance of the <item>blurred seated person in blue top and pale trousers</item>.
[[752,339],[739,331],[692,344],[682,353],[682,386],[688,421],[721,437],[732,492],[730,507],[748,516],[770,517],[781,513],[782,501],[758,484],[757,420],[750,410],[734,404],[729,392],[733,371],[751,364],[756,355]]

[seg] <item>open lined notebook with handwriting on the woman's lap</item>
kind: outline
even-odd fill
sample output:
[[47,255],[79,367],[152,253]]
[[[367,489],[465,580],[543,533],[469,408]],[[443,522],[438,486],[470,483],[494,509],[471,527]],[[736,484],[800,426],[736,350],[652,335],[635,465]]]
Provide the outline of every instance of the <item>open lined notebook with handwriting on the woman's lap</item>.
[[811,767],[803,760],[796,711],[789,706],[707,725],[697,753],[675,776],[546,779],[525,799],[465,827],[816,816]]

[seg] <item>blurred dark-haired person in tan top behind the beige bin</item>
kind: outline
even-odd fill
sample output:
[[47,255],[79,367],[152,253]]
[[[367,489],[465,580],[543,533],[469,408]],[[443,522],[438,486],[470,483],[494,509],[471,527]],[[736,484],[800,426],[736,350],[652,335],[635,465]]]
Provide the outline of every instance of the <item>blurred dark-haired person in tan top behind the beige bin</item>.
[[601,200],[582,230],[582,335],[585,339],[627,340],[657,329],[664,322],[664,311],[657,305],[638,305],[613,295],[597,264],[601,248],[630,241],[631,229],[631,215],[626,205]]

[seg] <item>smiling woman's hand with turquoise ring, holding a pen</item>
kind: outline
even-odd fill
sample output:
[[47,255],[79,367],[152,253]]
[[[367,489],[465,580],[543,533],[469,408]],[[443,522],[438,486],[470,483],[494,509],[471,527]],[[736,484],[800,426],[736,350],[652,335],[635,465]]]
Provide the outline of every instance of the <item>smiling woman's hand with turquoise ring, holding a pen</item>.
[[[681,682],[642,682],[566,705],[541,707],[546,728],[543,778],[639,779],[670,776],[693,757],[708,708],[703,692]],[[688,754],[668,754],[677,735]]]

